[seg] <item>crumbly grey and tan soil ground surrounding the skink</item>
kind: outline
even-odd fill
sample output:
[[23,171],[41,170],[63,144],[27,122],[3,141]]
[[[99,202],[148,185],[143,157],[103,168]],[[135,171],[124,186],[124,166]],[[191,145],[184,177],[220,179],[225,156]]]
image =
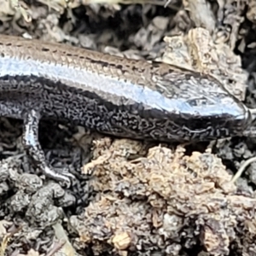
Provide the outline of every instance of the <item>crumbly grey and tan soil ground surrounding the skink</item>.
[[[255,108],[253,0],[131,3],[1,0],[0,30],[212,73]],[[256,163],[230,182],[255,139],[175,148],[42,122],[51,165],[79,177],[63,189],[33,170],[21,131],[0,119],[0,255],[256,254]]]

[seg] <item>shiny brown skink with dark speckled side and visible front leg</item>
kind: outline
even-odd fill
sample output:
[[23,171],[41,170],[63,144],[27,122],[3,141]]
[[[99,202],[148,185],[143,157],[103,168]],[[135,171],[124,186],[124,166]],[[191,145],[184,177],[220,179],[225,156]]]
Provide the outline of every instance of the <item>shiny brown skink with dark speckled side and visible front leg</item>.
[[217,79],[165,63],[0,35],[0,115],[24,120],[23,143],[48,176],[39,119],[67,120],[113,135],[157,142],[241,136],[250,110]]

